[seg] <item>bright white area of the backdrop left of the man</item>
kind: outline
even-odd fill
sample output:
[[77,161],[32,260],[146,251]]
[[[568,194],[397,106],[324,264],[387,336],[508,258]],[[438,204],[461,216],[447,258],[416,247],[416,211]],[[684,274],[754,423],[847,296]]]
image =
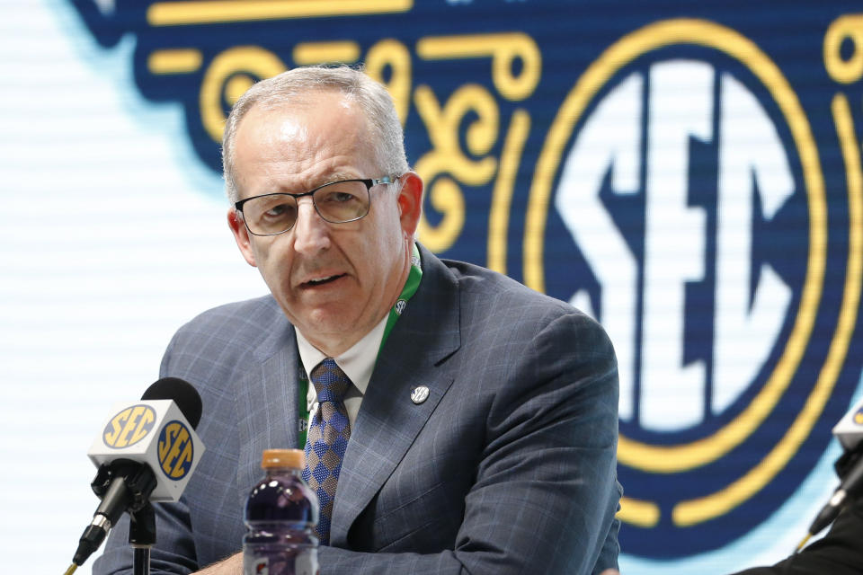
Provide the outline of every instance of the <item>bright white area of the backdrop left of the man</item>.
[[67,568],[98,503],[85,454],[111,405],[158,378],[180,324],[266,292],[179,106],[135,92],[131,39],[92,38],[59,0],[0,6],[4,573]]

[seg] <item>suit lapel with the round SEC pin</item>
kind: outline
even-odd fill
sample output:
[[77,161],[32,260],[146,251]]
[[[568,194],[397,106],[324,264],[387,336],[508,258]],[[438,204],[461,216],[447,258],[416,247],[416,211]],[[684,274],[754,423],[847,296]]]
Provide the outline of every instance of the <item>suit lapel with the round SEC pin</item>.
[[[458,284],[421,248],[423,280],[381,350],[351,429],[333,509],[330,544],[346,546],[354,520],[380,490],[452,384],[442,360],[460,345]],[[424,385],[429,397],[411,401]]]

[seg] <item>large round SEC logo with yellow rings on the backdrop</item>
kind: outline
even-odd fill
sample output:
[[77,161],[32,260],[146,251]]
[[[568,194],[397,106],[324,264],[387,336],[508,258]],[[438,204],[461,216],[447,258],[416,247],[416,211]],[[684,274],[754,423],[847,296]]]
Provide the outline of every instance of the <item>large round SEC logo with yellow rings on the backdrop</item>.
[[[562,234],[572,257],[556,243],[546,266],[546,238]],[[740,33],[655,22],[566,96],[531,184],[524,278],[597,317],[615,345],[628,553],[726,544],[813,468],[859,302],[854,282],[840,309],[824,297],[828,265],[859,258],[856,243],[829,247],[805,111]]]

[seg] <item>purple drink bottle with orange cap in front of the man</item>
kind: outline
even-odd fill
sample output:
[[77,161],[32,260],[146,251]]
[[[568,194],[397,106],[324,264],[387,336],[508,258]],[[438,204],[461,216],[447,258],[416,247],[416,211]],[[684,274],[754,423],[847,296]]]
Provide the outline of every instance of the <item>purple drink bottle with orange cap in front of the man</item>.
[[267,449],[266,476],[245,502],[243,571],[245,575],[317,575],[315,526],[319,504],[300,473],[299,449]]

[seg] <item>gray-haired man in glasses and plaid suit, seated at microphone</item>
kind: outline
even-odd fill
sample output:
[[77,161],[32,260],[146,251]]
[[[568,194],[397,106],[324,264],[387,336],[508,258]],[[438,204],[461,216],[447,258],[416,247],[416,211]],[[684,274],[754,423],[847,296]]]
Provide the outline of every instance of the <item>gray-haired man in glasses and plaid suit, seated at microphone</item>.
[[[307,421],[320,440],[340,414],[337,482],[316,487],[325,575],[616,567],[608,337],[414,243],[423,181],[383,86],[290,70],[236,103],[223,145],[228,224],[271,296],[201,314],[165,352],[162,376],[200,391],[207,452],[182,500],[157,506],[153,572],[241,572],[262,450],[303,447]],[[322,360],[350,380],[337,400],[316,395]],[[130,572],[126,537],[121,523],[95,573]]]

